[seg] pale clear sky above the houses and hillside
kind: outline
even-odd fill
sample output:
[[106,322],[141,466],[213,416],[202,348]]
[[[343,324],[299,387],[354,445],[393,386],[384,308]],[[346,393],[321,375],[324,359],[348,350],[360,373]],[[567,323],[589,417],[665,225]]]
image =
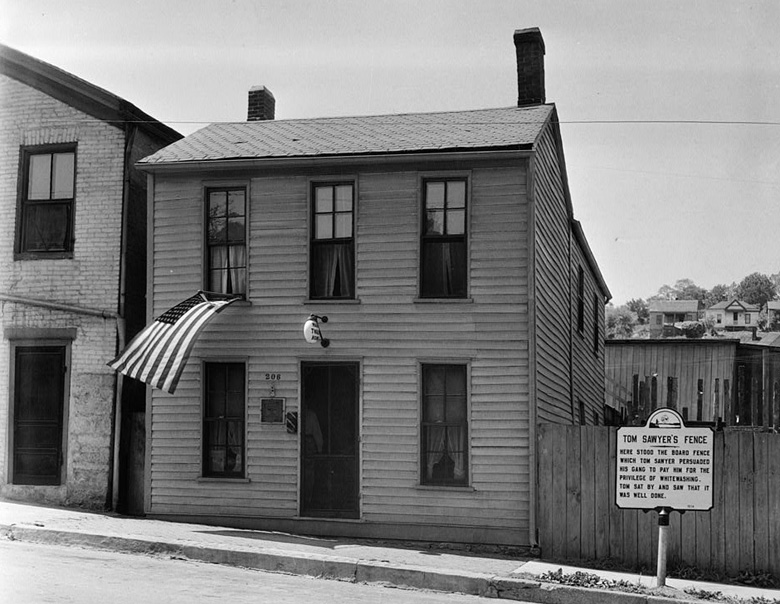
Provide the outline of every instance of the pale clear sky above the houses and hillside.
[[776,0],[0,0],[0,42],[184,135],[510,107],[539,27],[574,216],[613,302],[780,272]]

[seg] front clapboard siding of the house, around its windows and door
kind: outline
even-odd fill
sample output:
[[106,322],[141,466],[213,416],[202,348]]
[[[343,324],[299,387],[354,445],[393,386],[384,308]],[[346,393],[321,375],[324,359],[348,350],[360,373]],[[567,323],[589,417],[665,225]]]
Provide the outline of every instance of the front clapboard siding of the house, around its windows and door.
[[[459,167],[457,174],[463,173]],[[361,371],[361,518],[483,527],[505,531],[498,540],[526,538],[531,443],[525,163],[468,171],[465,302],[416,300],[424,174],[355,175],[357,301],[348,303],[307,301],[310,178],[269,174],[234,181],[249,186],[248,303],[234,304],[210,324],[175,395],[152,395],[152,514],[294,516],[298,435],[260,424],[260,399],[270,386],[264,374],[282,374],[276,396],[286,397],[287,410],[294,411],[300,361],[351,360]],[[156,176],[155,315],[202,287],[203,191],[209,178]],[[303,321],[313,312],[329,317],[323,325],[331,340],[327,349],[303,341]],[[248,482],[198,480],[200,372],[208,359],[247,363]],[[473,489],[418,486],[419,364],[430,361],[469,365]]]

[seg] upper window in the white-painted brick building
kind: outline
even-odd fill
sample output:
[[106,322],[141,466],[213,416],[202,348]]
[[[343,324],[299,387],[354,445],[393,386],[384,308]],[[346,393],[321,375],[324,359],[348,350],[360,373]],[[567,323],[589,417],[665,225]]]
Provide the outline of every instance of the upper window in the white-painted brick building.
[[17,252],[69,256],[73,252],[75,145],[24,149],[21,188]]

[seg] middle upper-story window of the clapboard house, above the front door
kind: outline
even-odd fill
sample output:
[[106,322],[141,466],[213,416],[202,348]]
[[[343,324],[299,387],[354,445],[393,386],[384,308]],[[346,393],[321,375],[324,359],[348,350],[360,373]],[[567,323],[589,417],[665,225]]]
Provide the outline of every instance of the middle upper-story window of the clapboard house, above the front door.
[[309,296],[355,297],[355,187],[318,183],[312,188]]

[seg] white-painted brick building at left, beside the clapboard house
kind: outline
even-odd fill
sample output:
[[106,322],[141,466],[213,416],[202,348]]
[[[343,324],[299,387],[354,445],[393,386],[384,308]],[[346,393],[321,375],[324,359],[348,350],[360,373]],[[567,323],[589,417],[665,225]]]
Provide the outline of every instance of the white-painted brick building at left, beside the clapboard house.
[[0,45],[3,497],[102,508],[122,491],[133,507],[144,390],[122,391],[106,360],[145,321],[146,178],[134,164],[179,138]]

